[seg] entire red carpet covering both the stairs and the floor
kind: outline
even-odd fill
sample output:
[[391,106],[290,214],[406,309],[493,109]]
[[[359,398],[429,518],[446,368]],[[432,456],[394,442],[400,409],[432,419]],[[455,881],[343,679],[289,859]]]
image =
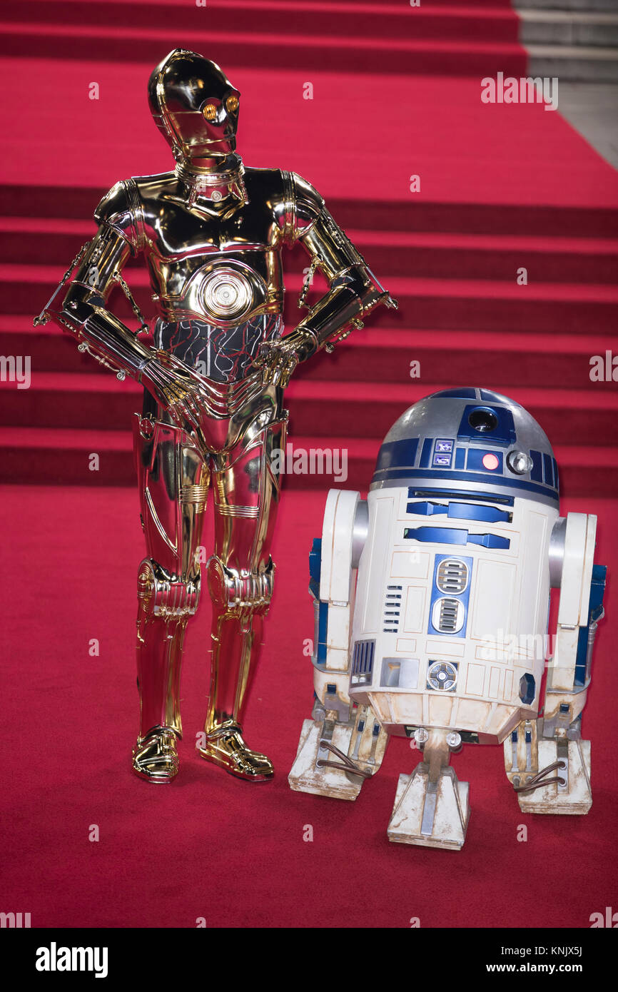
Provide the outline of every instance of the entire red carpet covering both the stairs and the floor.
[[[559,110],[481,103],[482,77],[527,73],[510,3],[25,0],[3,7],[0,39],[11,53],[0,60],[0,353],[32,360],[29,389],[0,386],[0,482],[17,483],[1,500],[2,667],[17,716],[7,724],[0,910],[30,912],[33,927],[190,928],[202,916],[209,927],[408,927],[411,917],[423,927],[587,927],[615,902],[618,391],[589,369],[592,355],[618,352],[618,179]],[[241,89],[246,163],[306,176],[400,301],[298,371],[287,394],[294,443],[345,448],[343,485],[364,489],[406,407],[445,386],[483,385],[550,434],[562,512],[599,514],[610,585],[584,714],[587,817],[524,816],[500,748],[468,746],[454,760],[472,803],[459,854],[387,841],[397,777],[418,757],[405,742],[391,744],[354,805],[289,790],[310,710],[307,556],[332,484],[323,476],[287,480],[247,724],[276,762],[275,783],[254,791],[193,753],[207,684],[203,605],[185,665],[182,775],[158,790],[130,773],[143,544],[137,495],[115,487],[133,485],[139,397],[32,316],[93,232],[101,193],[171,168],[146,81],[177,46],[220,62]],[[302,250],[287,258],[288,329],[307,265]],[[126,275],[150,313],[142,268]],[[112,300],[129,319],[124,298]],[[117,585],[100,578],[112,572]],[[98,843],[87,839],[92,823]]]

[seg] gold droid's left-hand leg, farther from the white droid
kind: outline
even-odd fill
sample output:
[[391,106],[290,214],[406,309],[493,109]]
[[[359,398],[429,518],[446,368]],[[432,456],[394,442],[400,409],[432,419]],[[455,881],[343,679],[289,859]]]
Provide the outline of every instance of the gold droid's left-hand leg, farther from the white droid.
[[133,770],[148,782],[167,783],[179,770],[181,665],[186,624],[199,598],[196,552],[208,467],[185,434],[156,418],[155,410],[134,425],[148,557],[138,572],[140,729]]

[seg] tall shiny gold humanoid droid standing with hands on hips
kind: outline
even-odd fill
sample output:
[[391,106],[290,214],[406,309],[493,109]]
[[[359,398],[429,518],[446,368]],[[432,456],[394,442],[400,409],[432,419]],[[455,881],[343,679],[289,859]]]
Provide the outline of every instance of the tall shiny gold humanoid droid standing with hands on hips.
[[[283,391],[299,362],[331,350],[378,304],[396,305],[313,186],[295,173],[245,168],[235,151],[240,93],[218,65],[177,49],[153,71],[148,96],[176,168],[117,183],[103,197],[98,231],[62,280],[76,267],[62,307],[57,291],[36,322],[53,318],[118,378],[145,387],[134,425],[147,558],[138,572],[133,768],[149,782],[178,773],[181,660],[212,485],[212,664],[199,753],[259,782],[273,767],[246,745],[242,717],[273,594],[280,482],[271,452],[285,447]],[[329,290],[284,335],[282,249],[297,241]],[[154,347],[107,309],[115,283],[131,299],[122,269],[139,254],[157,310]]]

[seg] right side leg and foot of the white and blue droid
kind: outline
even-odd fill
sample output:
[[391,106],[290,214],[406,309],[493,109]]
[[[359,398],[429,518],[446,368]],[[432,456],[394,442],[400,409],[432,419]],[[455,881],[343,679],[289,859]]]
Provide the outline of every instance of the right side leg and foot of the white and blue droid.
[[522,721],[505,740],[504,761],[525,812],[584,814],[592,792],[590,741],[581,739],[581,714],[603,616],[606,569],[593,563],[595,517],[569,513],[558,524],[560,599],[544,714]]

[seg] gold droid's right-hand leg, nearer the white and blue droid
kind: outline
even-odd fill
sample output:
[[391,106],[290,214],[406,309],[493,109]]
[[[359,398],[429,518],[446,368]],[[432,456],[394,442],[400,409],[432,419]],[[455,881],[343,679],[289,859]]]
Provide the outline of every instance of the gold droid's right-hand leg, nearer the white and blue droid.
[[274,774],[266,755],[245,743],[242,723],[273,594],[270,547],[280,497],[273,452],[285,447],[286,426],[278,420],[245,435],[226,456],[218,456],[213,470],[215,548],[206,566],[212,661],[205,741],[198,751],[250,782]]

